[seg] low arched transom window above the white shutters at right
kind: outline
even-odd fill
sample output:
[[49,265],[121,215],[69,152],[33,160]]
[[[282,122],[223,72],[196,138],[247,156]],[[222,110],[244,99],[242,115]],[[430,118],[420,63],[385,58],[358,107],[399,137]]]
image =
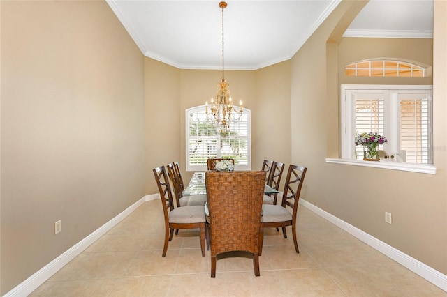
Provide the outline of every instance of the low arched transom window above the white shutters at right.
[[345,68],[346,76],[363,77],[425,77],[427,67],[389,59],[357,61]]

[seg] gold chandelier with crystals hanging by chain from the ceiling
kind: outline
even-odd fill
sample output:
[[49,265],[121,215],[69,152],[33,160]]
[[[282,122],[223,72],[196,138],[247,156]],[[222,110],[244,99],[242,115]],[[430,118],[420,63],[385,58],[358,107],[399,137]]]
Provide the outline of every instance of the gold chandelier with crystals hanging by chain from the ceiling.
[[210,111],[208,110],[208,102],[205,102],[205,112],[211,114],[212,121],[216,124],[217,130],[224,134],[230,132],[231,121],[239,121],[242,115],[242,101],[240,101],[240,109],[237,110],[231,101],[230,84],[225,80],[225,67],[223,59],[223,9],[226,8],[226,2],[220,2],[219,7],[222,8],[222,80],[217,83],[216,100],[211,98]]

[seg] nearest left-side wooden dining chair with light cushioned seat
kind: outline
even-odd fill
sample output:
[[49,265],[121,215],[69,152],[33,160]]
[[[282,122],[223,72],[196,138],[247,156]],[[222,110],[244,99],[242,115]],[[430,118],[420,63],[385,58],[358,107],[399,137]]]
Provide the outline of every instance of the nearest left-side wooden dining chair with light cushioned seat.
[[159,188],[163,214],[165,218],[165,242],[161,257],[166,256],[168,242],[173,239],[175,229],[200,229],[200,248],[205,257],[205,208],[204,206],[174,207],[168,176],[164,166],[153,169]]

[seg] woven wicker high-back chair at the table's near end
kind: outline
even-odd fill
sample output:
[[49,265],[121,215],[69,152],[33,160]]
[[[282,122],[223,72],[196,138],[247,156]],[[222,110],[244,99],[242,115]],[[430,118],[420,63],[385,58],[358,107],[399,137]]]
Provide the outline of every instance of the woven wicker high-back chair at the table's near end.
[[207,172],[211,229],[211,277],[216,277],[216,256],[223,252],[253,254],[259,276],[259,227],[265,172]]

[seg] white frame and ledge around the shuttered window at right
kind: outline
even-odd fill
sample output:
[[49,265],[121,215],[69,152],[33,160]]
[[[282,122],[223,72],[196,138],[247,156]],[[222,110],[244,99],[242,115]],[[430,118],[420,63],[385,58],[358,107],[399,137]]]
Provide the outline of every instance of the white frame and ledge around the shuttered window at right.
[[363,166],[363,167],[375,167],[375,168],[382,168],[382,169],[393,169],[393,170],[401,170],[406,172],[418,172],[418,173],[424,173],[424,174],[436,174],[436,167],[434,165],[425,165],[425,164],[413,164],[413,163],[406,163],[406,162],[396,162],[393,160],[381,160],[381,162],[371,162],[371,161],[365,161],[365,160],[357,160],[357,159],[351,159],[349,156],[353,153],[353,146],[347,146],[343,145],[346,143],[353,142],[353,132],[352,132],[352,125],[349,125],[348,123],[351,123],[352,121],[352,112],[349,112],[349,108],[351,108],[351,104],[347,104],[345,100],[345,93],[349,89],[393,89],[393,90],[399,90],[399,89],[427,89],[427,85],[424,86],[416,86],[416,85],[406,85],[406,86],[397,86],[397,85],[367,85],[367,84],[343,84],[341,86],[341,116],[342,120],[341,122],[341,141],[342,141],[342,158],[326,158],[325,161],[328,163],[336,163],[336,164],[342,164],[342,165],[354,165],[354,166]]

